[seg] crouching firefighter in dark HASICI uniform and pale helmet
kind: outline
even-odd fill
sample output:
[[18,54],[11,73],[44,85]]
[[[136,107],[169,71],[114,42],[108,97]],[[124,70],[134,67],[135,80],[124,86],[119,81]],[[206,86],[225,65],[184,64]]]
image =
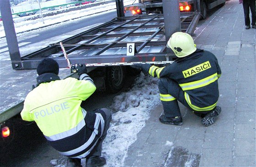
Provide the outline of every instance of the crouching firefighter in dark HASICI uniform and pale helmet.
[[[166,47],[177,59],[165,67],[134,64],[152,77],[159,78],[158,88],[164,114],[160,122],[182,125],[178,101],[201,116],[204,126],[212,125],[220,114],[218,78],[221,70],[213,53],[197,49],[193,38],[183,32],[172,34]],[[177,101],[178,100],[178,101]]]

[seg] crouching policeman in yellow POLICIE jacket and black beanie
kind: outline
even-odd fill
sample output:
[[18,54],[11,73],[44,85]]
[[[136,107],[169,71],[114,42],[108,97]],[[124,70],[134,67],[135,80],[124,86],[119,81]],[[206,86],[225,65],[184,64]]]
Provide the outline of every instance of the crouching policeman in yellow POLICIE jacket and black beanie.
[[23,120],[35,121],[50,146],[69,157],[67,166],[102,166],[102,141],[112,119],[108,109],[85,111],[82,101],[94,93],[96,87],[86,74],[84,65],[77,66],[79,79],[60,79],[59,65],[52,58],[43,59],[37,67],[37,87],[26,97],[21,111]]

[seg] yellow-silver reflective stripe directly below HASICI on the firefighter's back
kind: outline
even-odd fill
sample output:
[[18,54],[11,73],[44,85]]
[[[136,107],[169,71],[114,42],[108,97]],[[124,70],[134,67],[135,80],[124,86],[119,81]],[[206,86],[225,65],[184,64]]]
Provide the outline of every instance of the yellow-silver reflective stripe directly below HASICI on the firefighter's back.
[[213,83],[214,81],[216,81],[218,79],[217,73],[214,73],[213,75],[200,79],[198,81],[193,81],[193,82],[189,82],[189,83],[185,83],[185,84],[179,84],[181,89],[183,91],[185,90],[192,90],[192,89],[197,89],[197,88],[201,88],[204,87],[208,84]]

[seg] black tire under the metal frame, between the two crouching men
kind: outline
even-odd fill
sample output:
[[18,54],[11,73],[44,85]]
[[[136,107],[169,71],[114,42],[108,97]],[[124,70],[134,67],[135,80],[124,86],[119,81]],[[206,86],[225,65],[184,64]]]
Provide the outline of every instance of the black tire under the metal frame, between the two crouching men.
[[117,93],[123,88],[125,81],[125,68],[122,66],[113,66],[107,68],[107,92]]

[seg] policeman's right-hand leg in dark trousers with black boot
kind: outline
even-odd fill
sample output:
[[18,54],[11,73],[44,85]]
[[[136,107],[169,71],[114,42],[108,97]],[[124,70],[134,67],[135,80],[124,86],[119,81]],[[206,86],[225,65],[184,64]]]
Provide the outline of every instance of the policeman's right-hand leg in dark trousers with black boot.
[[101,149],[102,149],[102,142],[107,136],[107,130],[109,128],[110,122],[112,120],[112,115],[110,110],[106,108],[101,109],[105,115],[106,120],[104,125],[104,130],[101,138],[99,139],[95,151],[92,153],[92,156],[86,159],[86,167],[100,167],[106,164],[106,159],[104,157],[101,157]]

